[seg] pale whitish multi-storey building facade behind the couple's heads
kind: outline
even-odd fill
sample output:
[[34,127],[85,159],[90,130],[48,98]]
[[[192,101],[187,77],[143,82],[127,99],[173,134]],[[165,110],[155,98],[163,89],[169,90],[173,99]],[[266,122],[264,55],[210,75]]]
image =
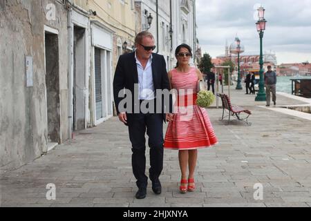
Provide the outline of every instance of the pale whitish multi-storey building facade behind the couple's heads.
[[[196,61],[195,1],[135,0],[136,32],[148,30],[156,39],[154,52],[163,55],[167,70],[176,65],[175,49],[185,43],[194,50],[191,64]],[[148,17],[153,17],[151,25]]]

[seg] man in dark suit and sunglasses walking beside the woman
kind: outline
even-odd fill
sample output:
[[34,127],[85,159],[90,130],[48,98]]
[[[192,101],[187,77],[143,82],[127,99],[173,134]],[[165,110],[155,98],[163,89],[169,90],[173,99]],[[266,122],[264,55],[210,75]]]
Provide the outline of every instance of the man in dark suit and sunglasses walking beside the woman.
[[[147,131],[150,147],[149,178],[152,181],[153,192],[158,195],[162,191],[159,177],[163,168],[163,121],[170,121],[172,115],[165,115],[164,107],[161,113],[156,112],[156,106],[164,103],[162,96],[156,97],[156,90],[170,90],[170,86],[164,57],[152,52],[156,48],[153,35],[146,31],[138,33],[135,37],[135,47],[135,52],[120,56],[117,62],[113,95],[120,121],[129,126],[133,174],[138,186],[135,197],[144,199],[148,184],[148,177],[145,175],[145,133]],[[122,112],[119,104],[123,98],[119,97],[119,93],[122,93],[124,88],[131,91],[132,97],[131,104],[126,104],[126,111]],[[169,102],[171,107],[171,99]],[[152,107],[152,104],[155,104],[154,111],[144,113],[140,108]]]

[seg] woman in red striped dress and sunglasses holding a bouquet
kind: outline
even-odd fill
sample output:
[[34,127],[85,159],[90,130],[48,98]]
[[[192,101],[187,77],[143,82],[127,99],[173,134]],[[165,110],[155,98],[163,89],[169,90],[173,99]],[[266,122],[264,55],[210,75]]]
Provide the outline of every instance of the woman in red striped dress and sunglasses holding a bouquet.
[[[196,105],[197,84],[203,79],[200,70],[189,66],[192,57],[190,46],[181,44],[176,48],[175,69],[170,70],[171,88],[177,92],[174,115],[168,117],[169,126],[164,140],[164,148],[178,150],[181,170],[180,192],[194,191],[194,171],[198,158],[198,148],[206,148],[217,143],[205,108]],[[187,175],[187,168],[189,174]]]

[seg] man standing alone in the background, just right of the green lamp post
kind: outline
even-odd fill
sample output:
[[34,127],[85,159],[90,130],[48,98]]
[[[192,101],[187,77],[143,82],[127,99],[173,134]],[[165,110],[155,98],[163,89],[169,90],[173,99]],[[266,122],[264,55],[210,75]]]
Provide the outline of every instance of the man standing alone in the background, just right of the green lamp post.
[[267,95],[267,105],[270,106],[270,92],[272,93],[272,101],[274,106],[276,105],[276,73],[272,71],[271,66],[267,66],[267,72],[265,73],[265,90]]

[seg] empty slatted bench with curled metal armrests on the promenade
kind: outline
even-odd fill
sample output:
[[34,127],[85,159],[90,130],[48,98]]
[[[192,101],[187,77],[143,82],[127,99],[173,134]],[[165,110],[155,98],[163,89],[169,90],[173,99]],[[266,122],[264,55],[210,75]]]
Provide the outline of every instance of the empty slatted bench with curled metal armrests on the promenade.
[[[230,122],[230,117],[231,116],[235,116],[238,120],[241,121],[245,121],[247,125],[250,125],[250,123],[248,122],[248,117],[249,115],[252,115],[251,111],[241,107],[241,106],[232,106],[230,99],[228,97],[228,95],[226,94],[217,94],[218,97],[221,98],[221,101],[223,102],[223,117],[221,118],[221,120],[223,120],[224,116],[225,116],[225,110],[229,111],[229,121]],[[243,117],[243,115],[246,115],[245,117]]]

